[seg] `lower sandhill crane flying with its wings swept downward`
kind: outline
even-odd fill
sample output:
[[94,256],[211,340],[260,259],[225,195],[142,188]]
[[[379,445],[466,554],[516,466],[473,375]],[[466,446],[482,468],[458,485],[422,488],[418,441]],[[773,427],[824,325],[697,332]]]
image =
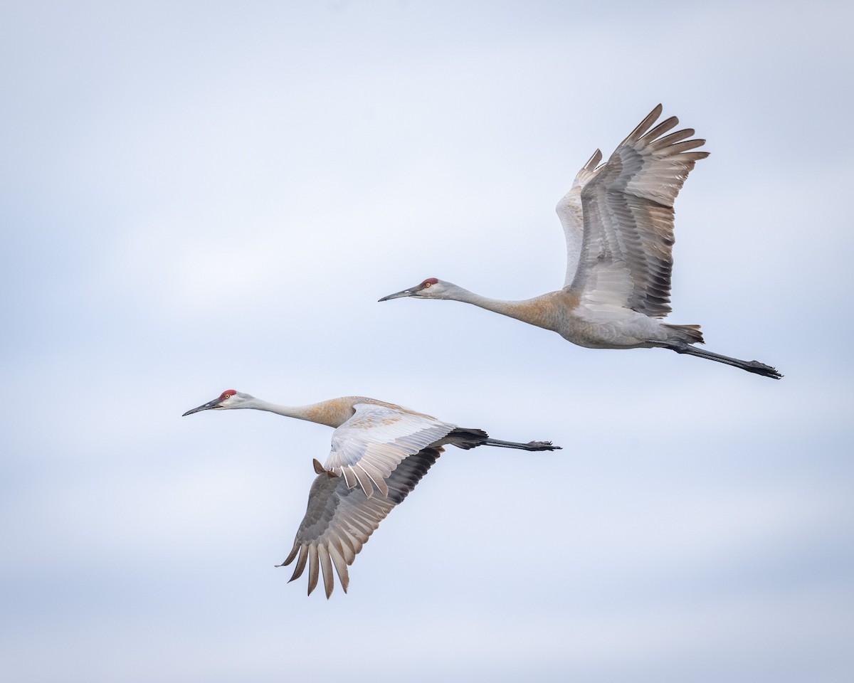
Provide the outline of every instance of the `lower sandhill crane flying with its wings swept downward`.
[[313,461],[317,477],[308,493],[306,516],[296,532],[294,547],[283,567],[296,559],[290,581],[308,565],[308,594],[323,572],[326,598],[332,594],[335,566],[347,593],[348,565],[386,515],[399,505],[430,470],[443,447],[497,446],[524,451],[553,451],[551,441],[500,441],[482,429],[463,429],[436,417],[382,400],[345,396],[310,406],[277,406],[228,389],[191,411],[251,408],[296,417],[335,428],[326,463]]

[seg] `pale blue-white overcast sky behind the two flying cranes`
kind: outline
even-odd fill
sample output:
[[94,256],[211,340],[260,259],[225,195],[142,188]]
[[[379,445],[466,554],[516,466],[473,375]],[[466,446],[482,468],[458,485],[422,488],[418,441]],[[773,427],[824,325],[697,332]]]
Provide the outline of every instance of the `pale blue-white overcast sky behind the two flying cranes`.
[[[4,3],[8,680],[854,678],[849,3]],[[673,313],[781,382],[454,302],[558,289],[553,207],[658,102],[707,139]],[[349,594],[290,551],[362,394],[451,449]]]

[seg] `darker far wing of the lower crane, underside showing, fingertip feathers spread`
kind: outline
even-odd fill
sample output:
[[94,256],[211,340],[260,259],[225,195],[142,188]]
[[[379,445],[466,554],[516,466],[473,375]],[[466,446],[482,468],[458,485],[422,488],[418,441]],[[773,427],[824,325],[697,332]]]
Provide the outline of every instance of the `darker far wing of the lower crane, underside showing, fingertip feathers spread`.
[[290,555],[278,566],[290,564],[296,558],[290,581],[298,579],[308,566],[309,595],[322,571],[327,598],[335,587],[334,566],[347,593],[348,566],[353,564],[379,522],[407,497],[441,453],[442,448],[424,448],[403,460],[386,479],[389,493],[384,498],[368,498],[361,487],[348,487],[344,477],[324,471],[315,460],[315,469],[320,474],[308,494],[306,516],[296,532]]

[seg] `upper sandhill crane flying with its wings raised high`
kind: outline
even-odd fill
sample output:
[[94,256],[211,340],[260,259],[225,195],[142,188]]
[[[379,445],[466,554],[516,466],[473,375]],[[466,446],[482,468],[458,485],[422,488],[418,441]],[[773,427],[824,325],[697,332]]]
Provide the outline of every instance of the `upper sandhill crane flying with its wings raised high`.
[[[603,165],[599,149],[578,172],[557,206],[566,236],[564,288],[527,301],[500,301],[429,277],[379,301],[412,296],[451,299],[553,330],[590,348],[670,348],[764,377],[782,375],[757,360],[740,360],[693,347],[699,325],[661,322],[670,312],[673,202],[705,140],[694,131],[664,135],[676,116],[652,127],[662,107],[631,131]],[[652,128],[652,130],[650,130]]]

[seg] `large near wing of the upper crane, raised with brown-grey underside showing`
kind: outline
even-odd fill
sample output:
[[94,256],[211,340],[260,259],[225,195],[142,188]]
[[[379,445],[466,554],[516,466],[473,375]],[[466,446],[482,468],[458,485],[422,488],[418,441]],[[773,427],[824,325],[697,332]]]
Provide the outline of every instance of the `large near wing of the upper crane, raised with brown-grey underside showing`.
[[[582,186],[584,236],[571,293],[588,305],[623,306],[652,318],[670,312],[673,202],[705,140],[687,128],[665,135],[675,116],[652,127],[652,112]],[[650,130],[652,129],[652,130]]]

